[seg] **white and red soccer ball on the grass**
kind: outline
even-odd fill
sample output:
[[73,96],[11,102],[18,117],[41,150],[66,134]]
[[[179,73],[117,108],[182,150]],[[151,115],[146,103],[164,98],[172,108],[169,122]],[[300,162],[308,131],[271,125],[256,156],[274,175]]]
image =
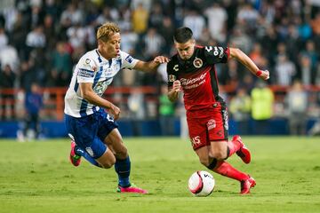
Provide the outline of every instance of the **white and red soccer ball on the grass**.
[[188,189],[197,197],[205,197],[212,193],[215,180],[207,171],[196,171],[188,180]]

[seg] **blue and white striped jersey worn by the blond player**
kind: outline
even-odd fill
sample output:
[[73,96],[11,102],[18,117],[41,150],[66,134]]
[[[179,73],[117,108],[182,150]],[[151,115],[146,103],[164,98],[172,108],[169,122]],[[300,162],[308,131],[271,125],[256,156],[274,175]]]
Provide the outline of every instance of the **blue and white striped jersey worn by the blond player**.
[[73,117],[84,117],[100,109],[80,95],[79,83],[93,83],[92,89],[100,97],[112,83],[115,75],[123,68],[133,68],[138,59],[120,51],[113,59],[104,59],[98,50],[88,51],[79,59],[74,69],[66,97],[64,113]]

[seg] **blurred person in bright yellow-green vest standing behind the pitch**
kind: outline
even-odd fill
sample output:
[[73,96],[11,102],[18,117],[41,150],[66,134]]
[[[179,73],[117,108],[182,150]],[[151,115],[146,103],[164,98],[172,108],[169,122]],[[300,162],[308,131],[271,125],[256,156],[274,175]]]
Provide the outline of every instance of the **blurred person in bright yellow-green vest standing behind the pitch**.
[[251,99],[253,134],[267,135],[270,133],[269,120],[273,116],[274,94],[266,83],[258,81],[251,92]]

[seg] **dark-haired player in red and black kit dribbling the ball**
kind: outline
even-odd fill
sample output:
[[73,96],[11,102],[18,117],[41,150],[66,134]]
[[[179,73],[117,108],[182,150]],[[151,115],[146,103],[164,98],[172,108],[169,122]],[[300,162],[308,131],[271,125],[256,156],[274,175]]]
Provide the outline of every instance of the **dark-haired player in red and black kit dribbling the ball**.
[[167,64],[168,98],[175,101],[183,91],[187,110],[189,137],[193,149],[205,167],[220,175],[238,180],[241,194],[256,185],[248,174],[233,168],[226,159],[237,154],[244,163],[251,162],[249,149],[240,136],[228,141],[228,112],[219,96],[214,65],[235,58],[253,75],[268,80],[268,70],[260,70],[243,51],[219,46],[196,46],[189,28],[178,28],[173,36],[177,54]]

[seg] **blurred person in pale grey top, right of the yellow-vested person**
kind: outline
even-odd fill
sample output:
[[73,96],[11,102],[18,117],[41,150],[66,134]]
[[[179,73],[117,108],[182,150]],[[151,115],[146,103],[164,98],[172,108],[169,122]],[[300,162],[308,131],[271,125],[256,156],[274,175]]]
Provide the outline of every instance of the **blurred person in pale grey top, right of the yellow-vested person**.
[[291,135],[305,135],[307,128],[308,94],[300,81],[294,81],[286,95],[288,124]]

